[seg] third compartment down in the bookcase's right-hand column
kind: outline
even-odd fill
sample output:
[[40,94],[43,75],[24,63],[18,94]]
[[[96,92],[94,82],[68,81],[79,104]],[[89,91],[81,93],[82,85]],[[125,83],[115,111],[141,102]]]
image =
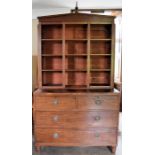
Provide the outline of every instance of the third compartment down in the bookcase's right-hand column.
[[90,69],[110,69],[111,57],[91,56],[90,57]]

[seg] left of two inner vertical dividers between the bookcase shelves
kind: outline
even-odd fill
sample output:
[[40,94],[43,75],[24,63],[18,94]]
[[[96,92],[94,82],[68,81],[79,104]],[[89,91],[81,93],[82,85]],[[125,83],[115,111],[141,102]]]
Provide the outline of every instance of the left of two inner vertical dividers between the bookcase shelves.
[[65,24],[63,23],[62,27],[62,73],[63,73],[63,87],[66,85],[66,76],[65,76]]

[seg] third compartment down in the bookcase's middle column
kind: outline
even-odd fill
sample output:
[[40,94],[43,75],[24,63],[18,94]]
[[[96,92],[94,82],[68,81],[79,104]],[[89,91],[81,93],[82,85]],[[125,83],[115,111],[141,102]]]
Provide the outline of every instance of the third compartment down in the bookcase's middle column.
[[66,57],[66,70],[86,70],[87,57]]

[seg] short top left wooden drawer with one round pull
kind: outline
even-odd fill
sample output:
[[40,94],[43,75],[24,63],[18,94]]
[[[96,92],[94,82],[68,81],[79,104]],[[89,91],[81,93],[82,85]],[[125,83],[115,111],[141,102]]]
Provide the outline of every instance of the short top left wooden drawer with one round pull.
[[76,108],[74,96],[37,96],[35,108],[42,111],[71,110]]

